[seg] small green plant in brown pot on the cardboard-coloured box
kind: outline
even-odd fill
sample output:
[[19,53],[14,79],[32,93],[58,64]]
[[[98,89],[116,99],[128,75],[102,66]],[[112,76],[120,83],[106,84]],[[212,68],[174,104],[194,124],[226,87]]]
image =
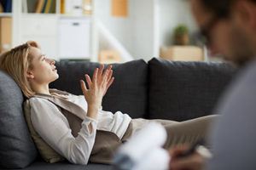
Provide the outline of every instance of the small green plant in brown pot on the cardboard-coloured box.
[[185,25],[178,25],[174,29],[174,43],[176,45],[189,45],[189,29]]

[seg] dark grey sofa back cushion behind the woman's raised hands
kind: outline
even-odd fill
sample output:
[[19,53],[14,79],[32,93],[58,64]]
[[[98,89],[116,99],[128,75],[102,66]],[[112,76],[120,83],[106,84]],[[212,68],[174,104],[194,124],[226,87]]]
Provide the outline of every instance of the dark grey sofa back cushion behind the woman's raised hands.
[[[99,63],[86,61],[60,61],[56,68],[59,79],[49,84],[72,94],[82,95],[80,79],[84,74],[92,77]],[[105,65],[105,69],[108,65]],[[143,59],[132,60],[124,64],[113,64],[114,81],[103,98],[104,111],[122,111],[131,117],[143,117],[146,114],[148,99],[148,65]],[[85,82],[85,81],[84,81]]]

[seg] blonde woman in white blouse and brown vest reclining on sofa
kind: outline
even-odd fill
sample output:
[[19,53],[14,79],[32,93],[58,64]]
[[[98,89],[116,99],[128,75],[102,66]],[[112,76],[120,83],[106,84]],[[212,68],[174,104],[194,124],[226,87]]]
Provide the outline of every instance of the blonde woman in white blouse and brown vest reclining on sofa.
[[2,54],[0,69],[15,79],[26,96],[27,125],[41,156],[49,162],[66,158],[76,164],[111,164],[119,145],[148,122],[160,122],[166,128],[166,149],[176,144],[193,144],[206,137],[215,117],[173,122],[131,119],[120,111],[102,111],[102,98],[113,83],[111,65],[105,71],[103,65],[96,68],[92,79],[85,75],[88,87],[80,80],[84,95],[49,89],[49,83],[59,75],[55,61],[43,54],[37,42],[26,42]]

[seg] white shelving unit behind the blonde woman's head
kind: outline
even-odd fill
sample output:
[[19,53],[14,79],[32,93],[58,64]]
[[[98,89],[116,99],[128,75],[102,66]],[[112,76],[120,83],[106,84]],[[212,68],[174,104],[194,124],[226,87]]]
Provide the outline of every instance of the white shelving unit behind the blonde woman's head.
[[[97,61],[98,41],[96,40],[96,10],[94,8],[94,1],[96,0],[92,1],[91,14],[80,16],[61,14],[61,0],[56,0],[55,14],[26,13],[22,11],[23,1],[26,0],[12,1],[12,13],[0,13],[0,17],[12,17],[12,47],[28,40],[34,40],[39,43],[43,52],[51,59],[90,59]],[[70,25],[67,26],[67,29],[61,27],[63,22],[69,22]],[[85,24],[89,25],[85,26]],[[65,34],[63,35],[61,32]],[[78,34],[89,37],[80,38]],[[67,45],[66,52],[69,49],[68,55],[60,51],[61,48],[63,49],[61,45]]]

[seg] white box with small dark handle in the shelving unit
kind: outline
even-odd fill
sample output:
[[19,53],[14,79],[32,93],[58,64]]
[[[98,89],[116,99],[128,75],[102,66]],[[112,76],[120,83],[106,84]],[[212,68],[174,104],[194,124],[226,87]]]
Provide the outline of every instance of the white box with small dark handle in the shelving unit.
[[73,56],[76,59],[90,59],[91,55],[91,19],[59,20],[59,55],[61,59]]

